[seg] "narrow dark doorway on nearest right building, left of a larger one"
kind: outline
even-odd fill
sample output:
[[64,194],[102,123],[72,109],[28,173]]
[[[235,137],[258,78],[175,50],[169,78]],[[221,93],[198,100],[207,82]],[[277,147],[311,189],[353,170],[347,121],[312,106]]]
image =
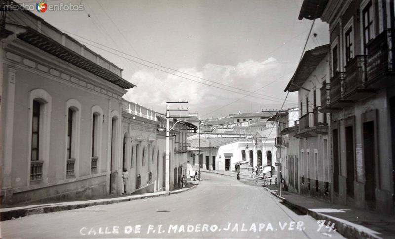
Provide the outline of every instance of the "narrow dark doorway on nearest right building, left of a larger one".
[[345,127],[346,134],[346,168],[347,168],[347,195],[354,198],[354,129]]

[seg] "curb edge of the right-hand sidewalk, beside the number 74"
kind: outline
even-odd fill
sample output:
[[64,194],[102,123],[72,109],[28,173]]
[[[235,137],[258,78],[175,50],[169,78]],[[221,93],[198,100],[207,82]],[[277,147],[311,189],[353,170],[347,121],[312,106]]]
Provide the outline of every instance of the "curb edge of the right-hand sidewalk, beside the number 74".
[[276,192],[270,190],[269,188],[265,187],[265,189],[271,194],[273,194],[274,196],[276,196],[277,198],[283,200],[285,204],[297,208],[301,212],[306,213],[307,215],[313,217],[316,220],[326,220],[327,222],[328,221],[334,222],[336,231],[346,238],[381,239],[381,237],[374,235],[373,233],[367,232],[366,230],[363,230],[361,228],[357,228],[360,227],[360,225],[358,224],[309,210],[305,207],[291,203],[284,197],[280,197],[279,195],[276,194]]

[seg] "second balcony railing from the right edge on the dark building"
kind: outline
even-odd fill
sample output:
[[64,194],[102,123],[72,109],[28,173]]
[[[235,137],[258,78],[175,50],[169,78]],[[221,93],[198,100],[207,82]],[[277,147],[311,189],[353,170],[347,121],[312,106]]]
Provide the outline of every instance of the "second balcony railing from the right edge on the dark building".
[[358,55],[346,65],[346,78],[344,80],[344,94],[349,94],[357,88],[364,88],[366,83],[366,56]]

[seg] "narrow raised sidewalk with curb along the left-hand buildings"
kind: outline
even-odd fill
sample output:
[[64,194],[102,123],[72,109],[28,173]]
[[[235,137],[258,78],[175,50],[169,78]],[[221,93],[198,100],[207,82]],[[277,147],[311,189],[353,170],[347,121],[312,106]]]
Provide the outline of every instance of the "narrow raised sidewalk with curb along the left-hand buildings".
[[[190,189],[193,189],[198,185],[198,183],[193,183],[193,184],[195,185],[193,185],[192,187],[170,191],[170,194],[182,193]],[[115,204],[120,202],[126,202],[126,201],[132,201],[132,200],[144,199],[144,198],[153,198],[153,197],[164,196],[164,195],[167,195],[166,192],[160,191],[155,193],[143,193],[143,194],[122,196],[115,198],[7,207],[7,208],[1,208],[0,215],[1,215],[1,221],[5,221],[5,220],[11,220],[14,218],[24,217],[33,214],[73,210],[73,209],[79,209],[79,208],[95,206],[95,205]]]

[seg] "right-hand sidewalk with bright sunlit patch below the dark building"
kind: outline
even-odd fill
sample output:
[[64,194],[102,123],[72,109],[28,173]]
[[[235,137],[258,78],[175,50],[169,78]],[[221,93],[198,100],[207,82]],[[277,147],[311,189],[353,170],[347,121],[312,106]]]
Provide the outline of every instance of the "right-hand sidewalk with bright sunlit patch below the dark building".
[[330,225],[334,222],[336,230],[346,238],[394,238],[395,216],[336,205],[287,191],[283,191],[280,197],[277,185],[264,187],[290,209],[297,209],[316,220],[326,220],[325,225],[329,221]]

